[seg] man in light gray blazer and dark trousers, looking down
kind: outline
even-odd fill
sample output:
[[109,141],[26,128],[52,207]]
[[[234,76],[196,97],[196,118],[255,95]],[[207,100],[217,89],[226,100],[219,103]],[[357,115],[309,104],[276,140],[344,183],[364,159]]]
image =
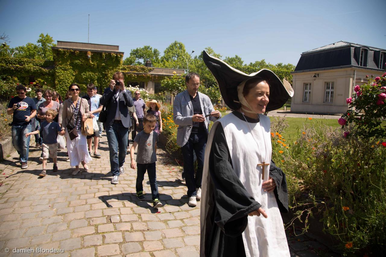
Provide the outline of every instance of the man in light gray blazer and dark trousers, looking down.
[[[208,139],[209,120],[221,118],[215,111],[207,95],[198,92],[200,76],[190,72],[185,77],[186,90],[176,95],[173,103],[173,120],[179,125],[177,144],[181,147],[184,159],[186,186],[188,187],[188,205],[196,206],[201,199],[202,169],[204,167],[205,146]],[[193,151],[197,157],[197,172],[194,176]]]

